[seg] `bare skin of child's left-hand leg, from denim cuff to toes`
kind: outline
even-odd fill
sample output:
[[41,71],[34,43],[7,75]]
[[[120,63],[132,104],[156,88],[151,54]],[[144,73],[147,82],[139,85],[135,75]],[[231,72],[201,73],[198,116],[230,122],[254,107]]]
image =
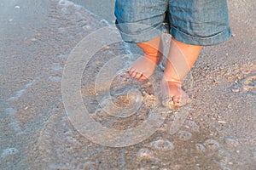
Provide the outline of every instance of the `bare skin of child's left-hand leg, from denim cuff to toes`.
[[148,42],[137,43],[137,46],[143,49],[144,54],[131,65],[128,71],[131,77],[143,81],[150,77],[155,67],[160,64],[162,45],[160,37],[155,37]]

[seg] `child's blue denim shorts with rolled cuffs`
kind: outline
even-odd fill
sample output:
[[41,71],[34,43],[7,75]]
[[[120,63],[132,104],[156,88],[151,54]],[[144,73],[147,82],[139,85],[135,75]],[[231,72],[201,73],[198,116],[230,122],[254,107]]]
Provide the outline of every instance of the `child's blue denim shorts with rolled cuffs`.
[[168,32],[179,42],[214,45],[231,37],[226,0],[116,0],[116,26],[125,42]]

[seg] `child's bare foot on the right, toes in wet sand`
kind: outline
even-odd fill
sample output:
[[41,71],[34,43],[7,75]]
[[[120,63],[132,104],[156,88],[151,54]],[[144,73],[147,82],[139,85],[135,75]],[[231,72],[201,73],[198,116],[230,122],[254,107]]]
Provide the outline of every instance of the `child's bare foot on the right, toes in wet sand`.
[[162,105],[176,108],[187,105],[190,102],[189,95],[183,91],[182,83],[162,79]]

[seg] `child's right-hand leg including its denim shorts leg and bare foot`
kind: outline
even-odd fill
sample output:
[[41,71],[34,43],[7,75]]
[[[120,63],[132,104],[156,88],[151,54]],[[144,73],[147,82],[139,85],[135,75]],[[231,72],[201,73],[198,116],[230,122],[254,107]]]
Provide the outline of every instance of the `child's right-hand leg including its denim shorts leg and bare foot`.
[[[181,106],[189,99],[181,88],[183,78],[195,63],[201,46],[224,42],[231,36],[228,6],[226,0],[168,0],[168,4],[173,38],[162,89],[172,105]],[[169,103],[164,100],[164,104]]]

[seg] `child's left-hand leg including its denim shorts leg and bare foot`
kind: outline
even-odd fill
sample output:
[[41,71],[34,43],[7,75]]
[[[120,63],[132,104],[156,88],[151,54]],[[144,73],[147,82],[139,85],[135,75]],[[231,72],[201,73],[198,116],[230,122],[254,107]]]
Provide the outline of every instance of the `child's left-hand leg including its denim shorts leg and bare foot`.
[[137,43],[144,51],[144,57],[128,70],[139,81],[150,77],[160,63],[158,49],[166,8],[166,0],[116,0],[114,14],[121,37],[125,42]]

